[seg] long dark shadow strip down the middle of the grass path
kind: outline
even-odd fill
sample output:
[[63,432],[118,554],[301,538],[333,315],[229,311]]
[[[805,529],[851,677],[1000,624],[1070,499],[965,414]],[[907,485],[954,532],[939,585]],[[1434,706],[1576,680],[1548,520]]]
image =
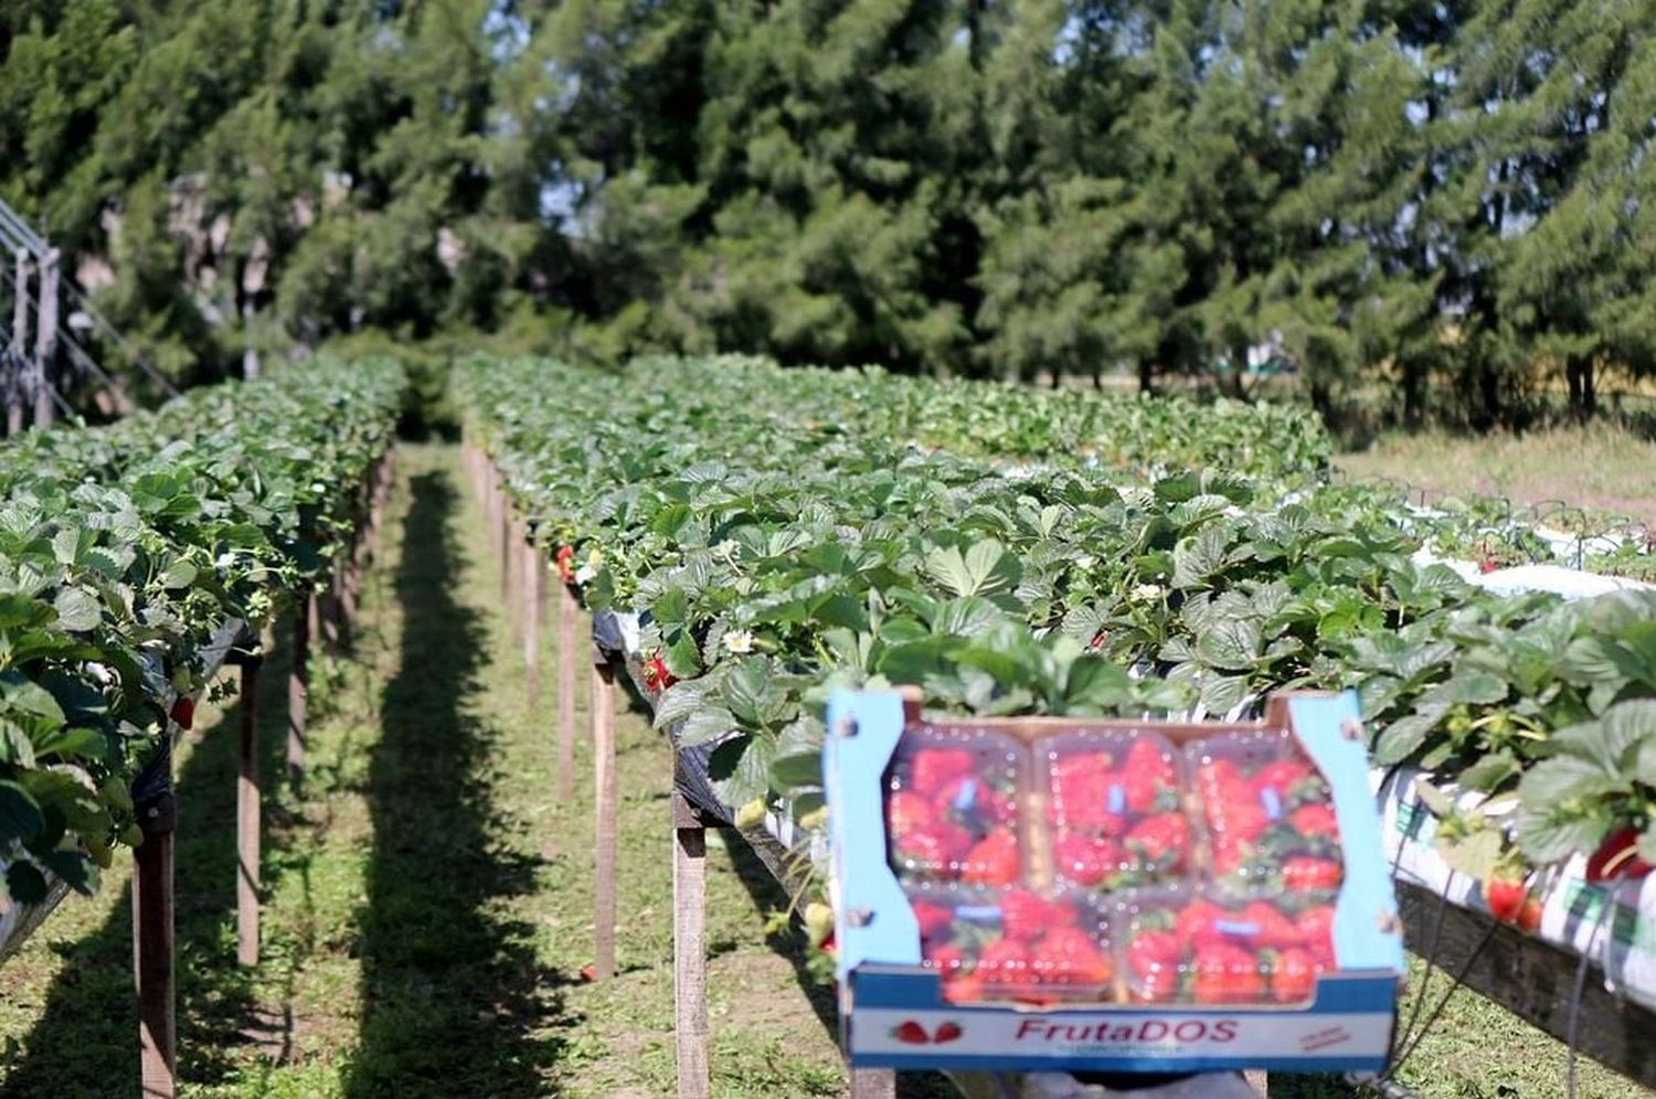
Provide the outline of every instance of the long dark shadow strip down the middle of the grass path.
[[396,597],[402,652],[384,690],[368,801],[374,852],[361,925],[363,1020],[344,1092],[492,1096],[546,1092],[560,1008],[542,973],[535,929],[492,902],[535,887],[537,862],[508,851],[485,768],[492,732],[467,712],[479,698],[487,622],[455,602],[464,561],[452,482],[421,473]]

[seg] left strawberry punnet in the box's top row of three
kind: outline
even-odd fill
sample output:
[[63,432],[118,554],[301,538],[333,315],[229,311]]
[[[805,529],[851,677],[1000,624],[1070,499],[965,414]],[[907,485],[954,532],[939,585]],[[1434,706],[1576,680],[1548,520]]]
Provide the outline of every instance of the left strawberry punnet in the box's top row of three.
[[904,738],[891,766],[886,836],[904,882],[1012,885],[1018,851],[1017,745],[987,730]]

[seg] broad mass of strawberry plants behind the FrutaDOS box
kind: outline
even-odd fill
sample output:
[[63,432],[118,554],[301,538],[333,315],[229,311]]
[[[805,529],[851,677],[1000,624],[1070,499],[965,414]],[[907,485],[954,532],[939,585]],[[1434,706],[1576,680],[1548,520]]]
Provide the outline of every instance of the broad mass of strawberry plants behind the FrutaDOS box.
[[[462,404],[588,606],[649,612],[657,720],[719,741],[732,804],[816,809],[830,684],[977,713],[1242,713],[1353,687],[1379,761],[1517,808],[1528,861],[1616,828],[1656,842],[1656,596],[1482,593],[1414,563],[1421,523],[1351,487],[960,457],[797,371],[631,377],[479,361]],[[1480,876],[1519,859],[1466,851]]]

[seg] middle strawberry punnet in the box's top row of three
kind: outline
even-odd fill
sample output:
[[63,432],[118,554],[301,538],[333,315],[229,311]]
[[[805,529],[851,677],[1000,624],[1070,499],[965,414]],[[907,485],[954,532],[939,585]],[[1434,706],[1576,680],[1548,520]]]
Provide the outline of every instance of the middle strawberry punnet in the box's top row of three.
[[1045,750],[1053,871],[1063,885],[1124,889],[1191,866],[1179,761],[1154,735],[1075,733]]

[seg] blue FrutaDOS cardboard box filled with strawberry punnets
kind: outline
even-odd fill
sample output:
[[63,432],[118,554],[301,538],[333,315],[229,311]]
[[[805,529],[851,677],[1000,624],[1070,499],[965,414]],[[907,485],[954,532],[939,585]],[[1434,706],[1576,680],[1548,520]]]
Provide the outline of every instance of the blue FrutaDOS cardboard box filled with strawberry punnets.
[[1176,725],[836,692],[828,727],[853,1064],[1384,1066],[1403,940],[1353,695]]

